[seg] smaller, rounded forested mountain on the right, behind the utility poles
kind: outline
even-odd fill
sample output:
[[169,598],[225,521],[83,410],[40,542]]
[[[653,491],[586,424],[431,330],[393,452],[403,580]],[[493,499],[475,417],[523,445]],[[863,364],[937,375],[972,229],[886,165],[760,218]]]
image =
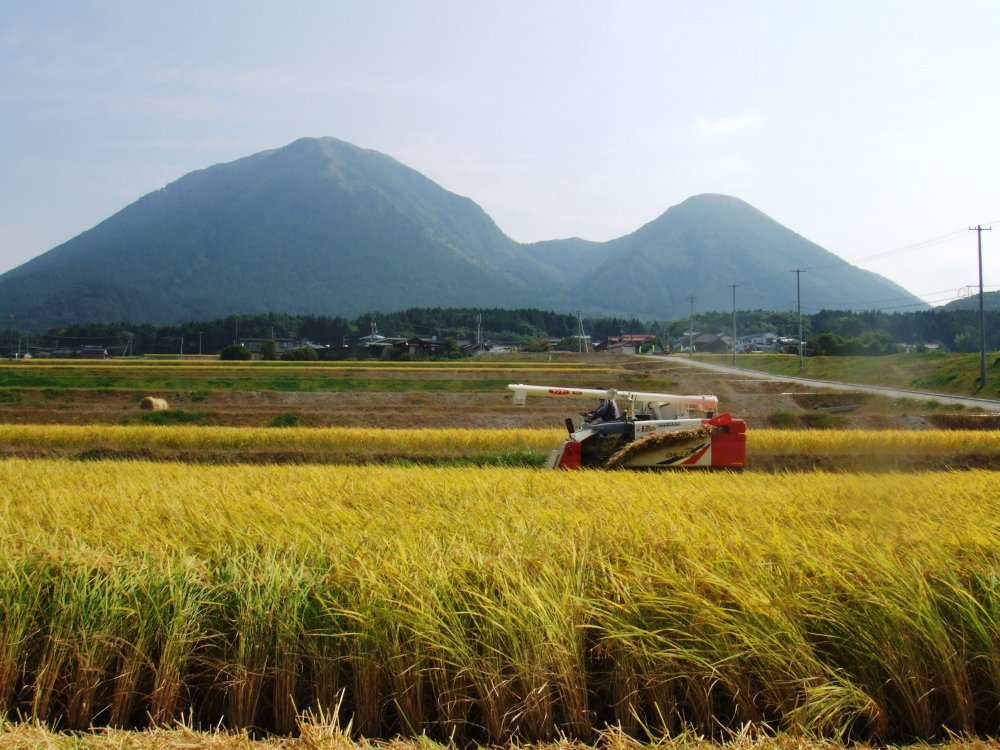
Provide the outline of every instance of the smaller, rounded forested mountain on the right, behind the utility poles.
[[[796,278],[795,269],[801,273]],[[621,306],[609,298],[609,280]],[[796,289],[796,282],[800,290]],[[698,195],[630,235],[605,243],[604,259],[570,287],[577,299],[639,316],[741,309],[857,310],[923,303],[786,229],[738,198]]]

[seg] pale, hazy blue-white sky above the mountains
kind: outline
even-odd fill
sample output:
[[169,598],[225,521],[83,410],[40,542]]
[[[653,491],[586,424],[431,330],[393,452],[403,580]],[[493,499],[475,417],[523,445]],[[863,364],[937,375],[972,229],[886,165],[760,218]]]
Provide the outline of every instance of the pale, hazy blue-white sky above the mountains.
[[998,0],[0,0],[0,272],[303,136],[522,242],[735,195],[932,302],[997,222],[1000,289]]

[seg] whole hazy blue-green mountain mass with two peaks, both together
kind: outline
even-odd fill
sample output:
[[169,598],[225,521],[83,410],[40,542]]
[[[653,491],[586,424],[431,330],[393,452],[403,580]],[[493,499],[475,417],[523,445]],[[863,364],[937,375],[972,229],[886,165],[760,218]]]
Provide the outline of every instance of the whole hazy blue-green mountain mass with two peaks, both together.
[[[540,307],[675,318],[918,303],[736,198],[703,195],[610,242],[519,244],[473,201],[332,138],[192,172],[0,276],[25,330],[231,313],[356,316],[407,307]],[[900,302],[902,300],[902,302]]]

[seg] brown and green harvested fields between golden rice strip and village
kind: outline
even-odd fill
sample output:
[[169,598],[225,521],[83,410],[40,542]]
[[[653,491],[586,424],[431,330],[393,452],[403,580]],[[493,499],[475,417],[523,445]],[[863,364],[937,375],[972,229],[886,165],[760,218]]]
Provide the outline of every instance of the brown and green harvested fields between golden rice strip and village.
[[[533,399],[526,408],[513,408],[506,386],[518,382],[711,393],[751,429],[767,426],[775,413],[809,410],[785,393],[787,384],[714,374],[669,358],[576,355],[550,362],[546,356],[458,364],[0,363],[0,423],[141,423],[138,405],[151,392],[174,409],[197,412],[198,424],[245,427],[264,427],[292,413],[304,427],[557,428],[592,406]],[[829,389],[818,393],[848,398]],[[837,426],[913,429],[924,413],[954,414],[917,402],[902,414],[898,406],[872,398]]]

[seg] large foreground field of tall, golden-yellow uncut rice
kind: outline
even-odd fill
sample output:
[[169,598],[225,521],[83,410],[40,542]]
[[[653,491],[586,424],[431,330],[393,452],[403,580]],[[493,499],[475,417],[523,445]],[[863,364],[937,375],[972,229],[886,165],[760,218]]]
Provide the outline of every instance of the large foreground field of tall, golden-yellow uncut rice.
[[[1000,731],[991,471],[0,462],[0,712],[456,743]],[[755,730],[755,731],[756,731]]]

